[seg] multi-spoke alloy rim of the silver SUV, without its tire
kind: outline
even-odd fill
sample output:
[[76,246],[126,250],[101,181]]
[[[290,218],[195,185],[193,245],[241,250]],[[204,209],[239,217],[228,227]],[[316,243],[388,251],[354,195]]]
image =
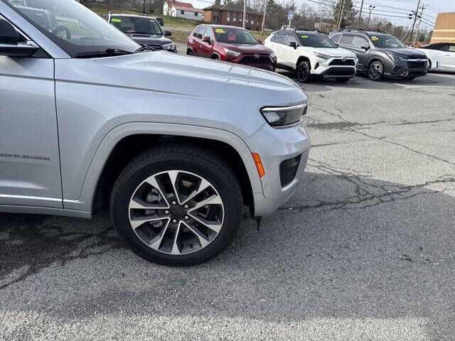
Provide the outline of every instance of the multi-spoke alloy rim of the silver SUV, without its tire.
[[224,206],[205,178],[187,171],[156,173],[129,201],[134,233],[164,254],[191,254],[208,246],[223,227]]

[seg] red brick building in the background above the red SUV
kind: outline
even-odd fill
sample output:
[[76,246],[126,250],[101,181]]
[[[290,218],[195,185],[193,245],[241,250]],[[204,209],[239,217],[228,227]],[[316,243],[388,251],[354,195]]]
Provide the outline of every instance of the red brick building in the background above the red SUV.
[[[203,11],[206,23],[242,27],[243,6],[241,4],[212,5],[206,7]],[[247,7],[245,28],[259,31],[262,26],[262,16],[263,13]]]

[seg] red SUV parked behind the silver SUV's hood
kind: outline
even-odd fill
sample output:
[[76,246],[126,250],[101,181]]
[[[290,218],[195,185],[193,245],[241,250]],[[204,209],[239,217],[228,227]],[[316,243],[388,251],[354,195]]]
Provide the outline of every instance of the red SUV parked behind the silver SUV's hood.
[[200,25],[188,36],[187,55],[225,60],[274,71],[277,57],[245,28]]

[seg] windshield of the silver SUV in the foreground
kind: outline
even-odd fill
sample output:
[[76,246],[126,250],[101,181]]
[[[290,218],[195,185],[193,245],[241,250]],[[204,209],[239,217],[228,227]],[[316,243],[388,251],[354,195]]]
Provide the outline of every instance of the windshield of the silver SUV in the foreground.
[[71,57],[107,49],[133,53],[140,48],[75,0],[0,1],[15,9]]

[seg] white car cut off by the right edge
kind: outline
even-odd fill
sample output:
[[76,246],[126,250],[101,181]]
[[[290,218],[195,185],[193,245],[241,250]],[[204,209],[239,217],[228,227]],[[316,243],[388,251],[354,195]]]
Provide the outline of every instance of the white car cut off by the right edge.
[[434,43],[416,50],[427,55],[430,70],[455,72],[455,43]]

